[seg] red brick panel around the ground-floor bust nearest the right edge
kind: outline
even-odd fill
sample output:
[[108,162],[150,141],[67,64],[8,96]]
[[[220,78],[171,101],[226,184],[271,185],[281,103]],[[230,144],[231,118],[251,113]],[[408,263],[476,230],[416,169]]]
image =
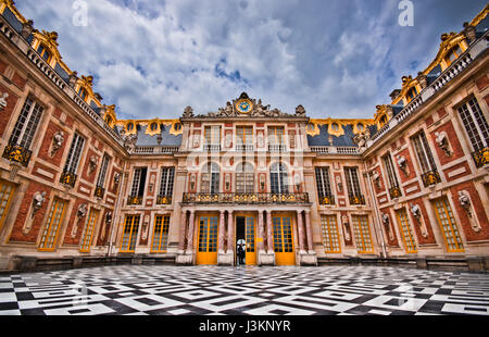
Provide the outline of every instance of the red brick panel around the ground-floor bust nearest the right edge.
[[[461,207],[459,202],[459,191],[465,190],[471,196],[472,201],[472,220],[478,221],[480,232],[476,233],[471,226],[471,219],[467,212]],[[486,210],[484,209],[480,196],[472,182],[466,182],[464,184],[456,185],[450,189],[452,194],[451,204],[455,208],[455,212],[459,214],[460,221],[462,222],[462,229],[465,234],[467,241],[480,241],[489,239],[489,222],[486,215]],[[475,214],[474,214],[475,213]]]

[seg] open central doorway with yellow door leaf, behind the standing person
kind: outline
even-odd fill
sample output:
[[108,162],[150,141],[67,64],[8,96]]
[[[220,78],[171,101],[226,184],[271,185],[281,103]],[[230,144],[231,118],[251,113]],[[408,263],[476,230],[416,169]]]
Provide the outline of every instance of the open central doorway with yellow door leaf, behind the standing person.
[[236,217],[236,265],[240,265],[238,247],[244,250],[244,265],[256,265],[256,225],[254,216]]

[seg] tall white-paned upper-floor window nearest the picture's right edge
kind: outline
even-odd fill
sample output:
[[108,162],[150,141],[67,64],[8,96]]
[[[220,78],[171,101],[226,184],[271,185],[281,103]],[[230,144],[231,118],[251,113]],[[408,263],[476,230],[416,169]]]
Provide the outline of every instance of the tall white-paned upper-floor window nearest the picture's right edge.
[[475,98],[459,108],[459,113],[467,132],[474,151],[489,147],[489,125]]

